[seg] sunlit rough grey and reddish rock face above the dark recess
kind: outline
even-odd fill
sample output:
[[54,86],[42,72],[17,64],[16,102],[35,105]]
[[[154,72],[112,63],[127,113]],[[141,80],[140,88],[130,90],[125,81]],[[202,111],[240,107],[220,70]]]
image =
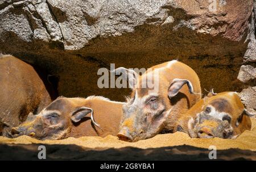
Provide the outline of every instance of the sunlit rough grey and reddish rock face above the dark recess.
[[[1,0],[3,33],[25,41],[61,41],[64,49],[81,49],[96,37],[120,36],[142,24],[174,24],[198,33],[240,41],[246,35],[253,1],[228,1],[209,11],[208,1],[60,1]],[[15,14],[16,11],[20,15]],[[10,22],[11,20],[11,22]],[[6,23],[9,22],[9,23]]]

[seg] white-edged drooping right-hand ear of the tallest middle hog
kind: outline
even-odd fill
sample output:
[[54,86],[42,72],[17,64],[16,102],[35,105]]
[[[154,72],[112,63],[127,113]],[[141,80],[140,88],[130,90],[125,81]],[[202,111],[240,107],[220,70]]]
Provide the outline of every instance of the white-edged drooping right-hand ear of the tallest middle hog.
[[179,93],[180,89],[185,84],[188,85],[189,93],[194,94],[193,86],[192,86],[192,83],[190,81],[188,81],[187,79],[177,79],[176,78],[176,79],[172,80],[172,83],[168,88],[169,98],[175,97],[175,95],[177,95],[177,93]]

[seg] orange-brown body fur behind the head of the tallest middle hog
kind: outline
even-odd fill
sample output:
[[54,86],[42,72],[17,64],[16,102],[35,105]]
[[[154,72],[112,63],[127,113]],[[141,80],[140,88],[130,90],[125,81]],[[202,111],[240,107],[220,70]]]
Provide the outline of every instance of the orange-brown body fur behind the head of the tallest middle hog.
[[[165,62],[163,64],[153,66],[151,69],[158,69],[166,66],[167,64],[168,62]],[[142,80],[144,75],[139,78],[140,81]],[[164,125],[165,129],[172,130],[176,127],[176,119],[180,118],[181,114],[186,112],[201,99],[200,81],[199,77],[193,69],[178,61],[173,64],[171,68],[166,68],[162,73],[159,73],[159,77],[159,94],[162,95],[162,99],[165,102],[164,104],[166,104],[166,109],[170,109],[171,107],[173,107],[171,110],[171,114],[169,115],[169,118]],[[170,83],[175,78],[188,79],[189,81],[191,81],[194,92],[198,94],[190,94],[188,91],[188,87],[183,86],[180,89],[179,94],[177,94],[176,97],[170,100],[167,96],[167,90],[170,86]],[[133,91],[133,94],[134,93],[135,91]],[[143,97],[147,94],[148,89],[144,89],[144,91],[142,91],[142,89],[138,89],[138,97]]]

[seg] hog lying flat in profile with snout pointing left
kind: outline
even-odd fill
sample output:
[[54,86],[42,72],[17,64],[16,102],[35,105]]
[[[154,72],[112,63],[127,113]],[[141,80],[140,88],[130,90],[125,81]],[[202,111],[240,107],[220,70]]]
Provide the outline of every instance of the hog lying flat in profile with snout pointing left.
[[86,99],[59,97],[38,115],[30,114],[23,124],[11,129],[11,134],[40,140],[115,136],[122,119],[122,106],[122,102],[98,96]]

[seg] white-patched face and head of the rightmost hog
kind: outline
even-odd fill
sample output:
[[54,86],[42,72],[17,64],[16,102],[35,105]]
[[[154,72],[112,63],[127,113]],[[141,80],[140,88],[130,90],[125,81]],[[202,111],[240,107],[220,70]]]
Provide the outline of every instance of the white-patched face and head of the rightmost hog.
[[[240,133],[236,133],[239,125],[244,125],[244,115],[253,116],[245,109],[234,108],[232,99],[210,99],[207,100],[203,110],[196,115],[196,118],[189,119],[188,133],[192,138],[213,138],[234,139]],[[235,115],[240,111],[240,115]],[[243,122],[243,123],[242,123]],[[241,124],[242,123],[242,124]],[[247,125],[247,124],[246,124]]]

